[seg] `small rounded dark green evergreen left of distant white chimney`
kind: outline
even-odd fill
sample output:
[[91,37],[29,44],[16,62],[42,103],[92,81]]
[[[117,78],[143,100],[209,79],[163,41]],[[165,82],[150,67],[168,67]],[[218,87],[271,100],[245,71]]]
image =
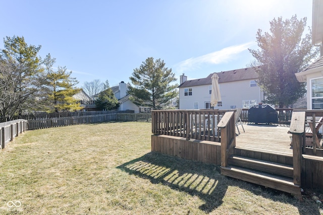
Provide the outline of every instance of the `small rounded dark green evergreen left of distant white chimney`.
[[95,100],[95,106],[99,110],[113,110],[119,107],[119,102],[111,88],[109,88],[99,93],[98,98]]

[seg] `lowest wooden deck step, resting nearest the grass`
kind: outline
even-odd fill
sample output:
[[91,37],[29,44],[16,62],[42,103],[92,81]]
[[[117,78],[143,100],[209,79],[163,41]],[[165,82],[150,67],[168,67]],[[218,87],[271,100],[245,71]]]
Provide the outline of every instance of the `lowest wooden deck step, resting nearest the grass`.
[[292,178],[232,165],[221,167],[221,174],[301,196],[301,188],[294,184]]

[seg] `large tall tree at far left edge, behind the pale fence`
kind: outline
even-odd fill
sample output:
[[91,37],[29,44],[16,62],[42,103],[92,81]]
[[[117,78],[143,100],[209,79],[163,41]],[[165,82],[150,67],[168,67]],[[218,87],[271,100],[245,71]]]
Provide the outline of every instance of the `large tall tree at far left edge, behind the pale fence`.
[[2,121],[12,120],[23,111],[38,107],[42,92],[43,68],[37,56],[41,46],[28,45],[24,37],[4,39],[0,52],[0,114]]

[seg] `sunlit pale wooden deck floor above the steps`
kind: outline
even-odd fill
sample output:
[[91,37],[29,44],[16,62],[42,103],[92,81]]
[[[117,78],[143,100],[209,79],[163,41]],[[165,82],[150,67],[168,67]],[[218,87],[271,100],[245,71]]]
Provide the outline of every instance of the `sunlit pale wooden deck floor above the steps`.
[[[242,130],[241,125],[238,125]],[[236,137],[236,148],[268,154],[293,156],[289,125],[243,124],[245,132]]]

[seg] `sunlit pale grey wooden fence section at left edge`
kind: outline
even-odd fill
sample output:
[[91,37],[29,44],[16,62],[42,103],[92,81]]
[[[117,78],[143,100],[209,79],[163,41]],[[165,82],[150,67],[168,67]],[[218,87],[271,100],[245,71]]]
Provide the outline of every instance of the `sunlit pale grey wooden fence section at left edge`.
[[1,149],[5,149],[9,141],[12,141],[14,137],[19,133],[27,130],[27,120],[17,119],[9,122],[0,123],[0,145]]

